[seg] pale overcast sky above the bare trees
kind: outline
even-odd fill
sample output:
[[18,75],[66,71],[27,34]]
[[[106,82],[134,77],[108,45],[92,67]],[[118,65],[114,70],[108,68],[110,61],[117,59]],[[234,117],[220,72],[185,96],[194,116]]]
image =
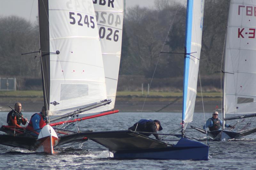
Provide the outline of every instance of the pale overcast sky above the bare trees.
[[[38,0],[0,0],[0,16],[18,15],[36,21]],[[152,7],[154,0],[126,0],[126,8],[139,5]]]

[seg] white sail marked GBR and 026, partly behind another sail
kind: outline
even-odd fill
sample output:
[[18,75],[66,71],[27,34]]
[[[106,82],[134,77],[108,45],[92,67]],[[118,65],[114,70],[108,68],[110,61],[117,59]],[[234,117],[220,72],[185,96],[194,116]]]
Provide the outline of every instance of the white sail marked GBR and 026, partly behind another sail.
[[93,1],[105,70],[107,98],[112,100],[105,110],[115,106],[123,29],[123,0]]

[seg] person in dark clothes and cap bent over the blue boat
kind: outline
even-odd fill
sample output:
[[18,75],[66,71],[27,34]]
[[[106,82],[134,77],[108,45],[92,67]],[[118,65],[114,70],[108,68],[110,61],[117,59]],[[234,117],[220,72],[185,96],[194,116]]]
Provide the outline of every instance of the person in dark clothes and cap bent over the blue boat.
[[[139,131],[139,132],[152,132],[157,133],[157,131],[163,130],[160,121],[151,120],[151,119],[141,119],[139,122],[136,122],[129,130]],[[141,133],[145,136],[150,136],[151,133]],[[161,140],[158,134],[153,134],[156,139]]]

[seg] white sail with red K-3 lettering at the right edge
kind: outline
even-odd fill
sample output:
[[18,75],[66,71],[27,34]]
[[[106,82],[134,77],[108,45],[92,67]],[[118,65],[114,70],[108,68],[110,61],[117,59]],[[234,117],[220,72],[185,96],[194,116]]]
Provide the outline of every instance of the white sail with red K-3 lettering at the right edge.
[[225,51],[226,113],[256,113],[256,1],[231,0]]

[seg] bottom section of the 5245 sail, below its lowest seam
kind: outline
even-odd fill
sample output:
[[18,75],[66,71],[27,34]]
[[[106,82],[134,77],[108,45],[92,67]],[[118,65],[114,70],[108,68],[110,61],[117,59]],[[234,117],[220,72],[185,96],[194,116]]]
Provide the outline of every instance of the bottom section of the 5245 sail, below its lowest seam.
[[[61,115],[106,99],[106,89],[103,88],[105,83],[80,81],[80,84],[72,84],[71,82],[68,80],[66,80],[65,84],[57,83],[57,80],[51,82],[50,103],[54,101],[59,103],[57,105],[50,104],[51,112]],[[64,92],[67,96],[65,96]]]

